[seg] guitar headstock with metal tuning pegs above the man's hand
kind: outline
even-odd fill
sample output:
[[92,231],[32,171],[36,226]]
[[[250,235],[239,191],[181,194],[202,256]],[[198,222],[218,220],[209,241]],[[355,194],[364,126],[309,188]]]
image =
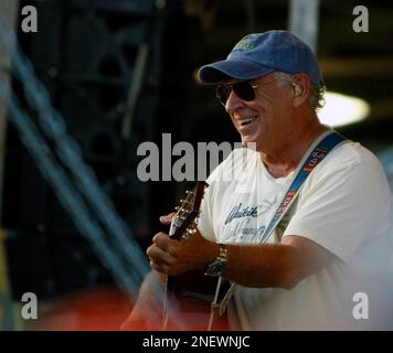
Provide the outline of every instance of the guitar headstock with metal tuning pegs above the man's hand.
[[172,218],[169,235],[180,239],[195,233],[198,216],[200,213],[201,202],[204,195],[204,190],[208,188],[204,181],[197,182],[193,191],[185,192],[185,199],[180,200],[180,205]]

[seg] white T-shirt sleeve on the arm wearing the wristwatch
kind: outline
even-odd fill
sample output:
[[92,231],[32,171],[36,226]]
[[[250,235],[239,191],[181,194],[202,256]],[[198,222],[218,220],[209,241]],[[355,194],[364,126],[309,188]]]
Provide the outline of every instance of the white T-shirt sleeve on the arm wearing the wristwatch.
[[306,185],[284,236],[307,237],[347,263],[389,228],[389,186],[375,157],[325,170]]

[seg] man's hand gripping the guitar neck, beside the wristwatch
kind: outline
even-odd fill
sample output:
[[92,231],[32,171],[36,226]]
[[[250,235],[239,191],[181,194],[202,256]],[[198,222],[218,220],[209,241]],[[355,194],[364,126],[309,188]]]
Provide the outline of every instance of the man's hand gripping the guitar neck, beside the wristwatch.
[[[163,224],[170,224],[174,213],[161,216]],[[153,244],[147,249],[150,266],[166,275],[180,275],[190,269],[200,269],[219,255],[219,245],[205,239],[197,233],[188,238],[178,240],[166,233],[157,233]]]

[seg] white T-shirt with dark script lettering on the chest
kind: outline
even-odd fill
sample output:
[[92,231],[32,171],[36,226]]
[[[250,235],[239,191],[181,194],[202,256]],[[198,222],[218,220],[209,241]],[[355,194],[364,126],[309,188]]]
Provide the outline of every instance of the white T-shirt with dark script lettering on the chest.
[[[201,234],[219,243],[261,243],[294,178],[293,172],[275,179],[259,153],[234,150],[208,179]],[[392,329],[393,277],[385,274],[392,252],[390,207],[389,184],[374,154],[355,142],[331,151],[267,243],[298,235],[337,259],[291,290],[237,286],[234,303],[242,329]]]

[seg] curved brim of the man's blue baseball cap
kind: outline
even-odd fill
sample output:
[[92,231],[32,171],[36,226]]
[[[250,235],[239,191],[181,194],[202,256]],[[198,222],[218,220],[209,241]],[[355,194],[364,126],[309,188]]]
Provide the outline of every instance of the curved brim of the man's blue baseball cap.
[[219,84],[229,78],[253,79],[273,71],[270,67],[244,60],[223,60],[202,66],[198,77],[203,84]]

